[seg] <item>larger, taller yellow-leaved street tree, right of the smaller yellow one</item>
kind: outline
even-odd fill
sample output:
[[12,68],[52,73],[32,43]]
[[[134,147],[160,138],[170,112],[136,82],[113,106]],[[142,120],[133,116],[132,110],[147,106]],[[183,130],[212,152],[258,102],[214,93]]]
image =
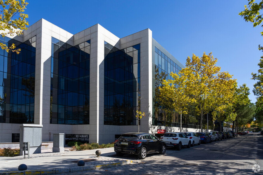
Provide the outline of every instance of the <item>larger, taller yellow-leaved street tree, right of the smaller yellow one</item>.
[[236,87],[236,80],[228,72],[220,72],[220,67],[216,66],[217,59],[212,53],[201,58],[193,54],[186,60],[186,70],[192,72],[189,87],[192,86],[193,96],[197,108],[196,111],[201,117],[200,125],[203,132],[203,115],[215,109],[218,106],[227,104],[233,100],[233,94]]

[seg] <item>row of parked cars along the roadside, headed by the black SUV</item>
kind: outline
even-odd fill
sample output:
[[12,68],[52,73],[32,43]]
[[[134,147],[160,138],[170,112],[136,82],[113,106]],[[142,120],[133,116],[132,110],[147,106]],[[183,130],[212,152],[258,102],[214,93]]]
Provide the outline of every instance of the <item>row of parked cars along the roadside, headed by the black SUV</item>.
[[135,154],[140,159],[145,159],[148,153],[159,152],[160,154],[165,154],[167,146],[181,150],[183,146],[190,148],[196,144],[206,144],[236,136],[237,134],[233,131],[166,132],[159,139],[149,133],[129,132],[122,134],[115,140],[114,151],[117,156]]

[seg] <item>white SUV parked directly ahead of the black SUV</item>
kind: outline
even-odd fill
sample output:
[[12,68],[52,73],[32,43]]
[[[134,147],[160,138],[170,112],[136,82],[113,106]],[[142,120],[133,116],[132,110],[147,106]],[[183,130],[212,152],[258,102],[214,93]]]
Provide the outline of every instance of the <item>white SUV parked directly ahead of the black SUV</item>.
[[191,147],[191,140],[182,132],[167,132],[160,137],[167,146],[173,146],[177,150],[181,150],[182,146]]

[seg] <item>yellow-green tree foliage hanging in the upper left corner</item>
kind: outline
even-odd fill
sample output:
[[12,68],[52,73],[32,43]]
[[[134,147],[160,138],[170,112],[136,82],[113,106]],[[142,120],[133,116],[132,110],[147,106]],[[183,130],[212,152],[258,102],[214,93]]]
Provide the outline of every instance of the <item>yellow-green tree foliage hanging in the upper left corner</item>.
[[[27,29],[26,25],[28,25],[28,22],[26,18],[28,18],[28,15],[23,13],[27,4],[25,0],[0,0],[0,34],[2,37],[7,35],[20,35],[23,30]],[[11,50],[18,54],[19,51],[21,51],[21,49],[16,49],[14,43],[8,47],[0,42],[0,46],[7,52]]]

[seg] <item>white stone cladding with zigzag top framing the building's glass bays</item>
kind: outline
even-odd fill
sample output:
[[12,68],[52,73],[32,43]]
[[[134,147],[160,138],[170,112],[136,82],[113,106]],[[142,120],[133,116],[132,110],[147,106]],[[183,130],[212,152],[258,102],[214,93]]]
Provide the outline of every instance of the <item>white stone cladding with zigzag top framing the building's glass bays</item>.
[[[145,29],[124,38],[118,38],[100,24],[73,35],[41,19],[28,27],[21,36],[12,37],[21,42],[36,36],[35,112],[34,124],[42,124],[42,141],[52,141],[53,134],[88,134],[89,142],[109,143],[115,135],[137,132],[138,126],[104,125],[104,41],[118,49],[140,44],[140,95],[142,118],[140,132],[157,133],[157,129],[178,131],[176,127],[152,126],[152,31]],[[71,46],[90,40],[90,115],[89,124],[50,124],[51,38]],[[0,123],[0,143],[11,142],[12,133],[19,133],[20,124]],[[187,129],[196,131],[196,129]]]

